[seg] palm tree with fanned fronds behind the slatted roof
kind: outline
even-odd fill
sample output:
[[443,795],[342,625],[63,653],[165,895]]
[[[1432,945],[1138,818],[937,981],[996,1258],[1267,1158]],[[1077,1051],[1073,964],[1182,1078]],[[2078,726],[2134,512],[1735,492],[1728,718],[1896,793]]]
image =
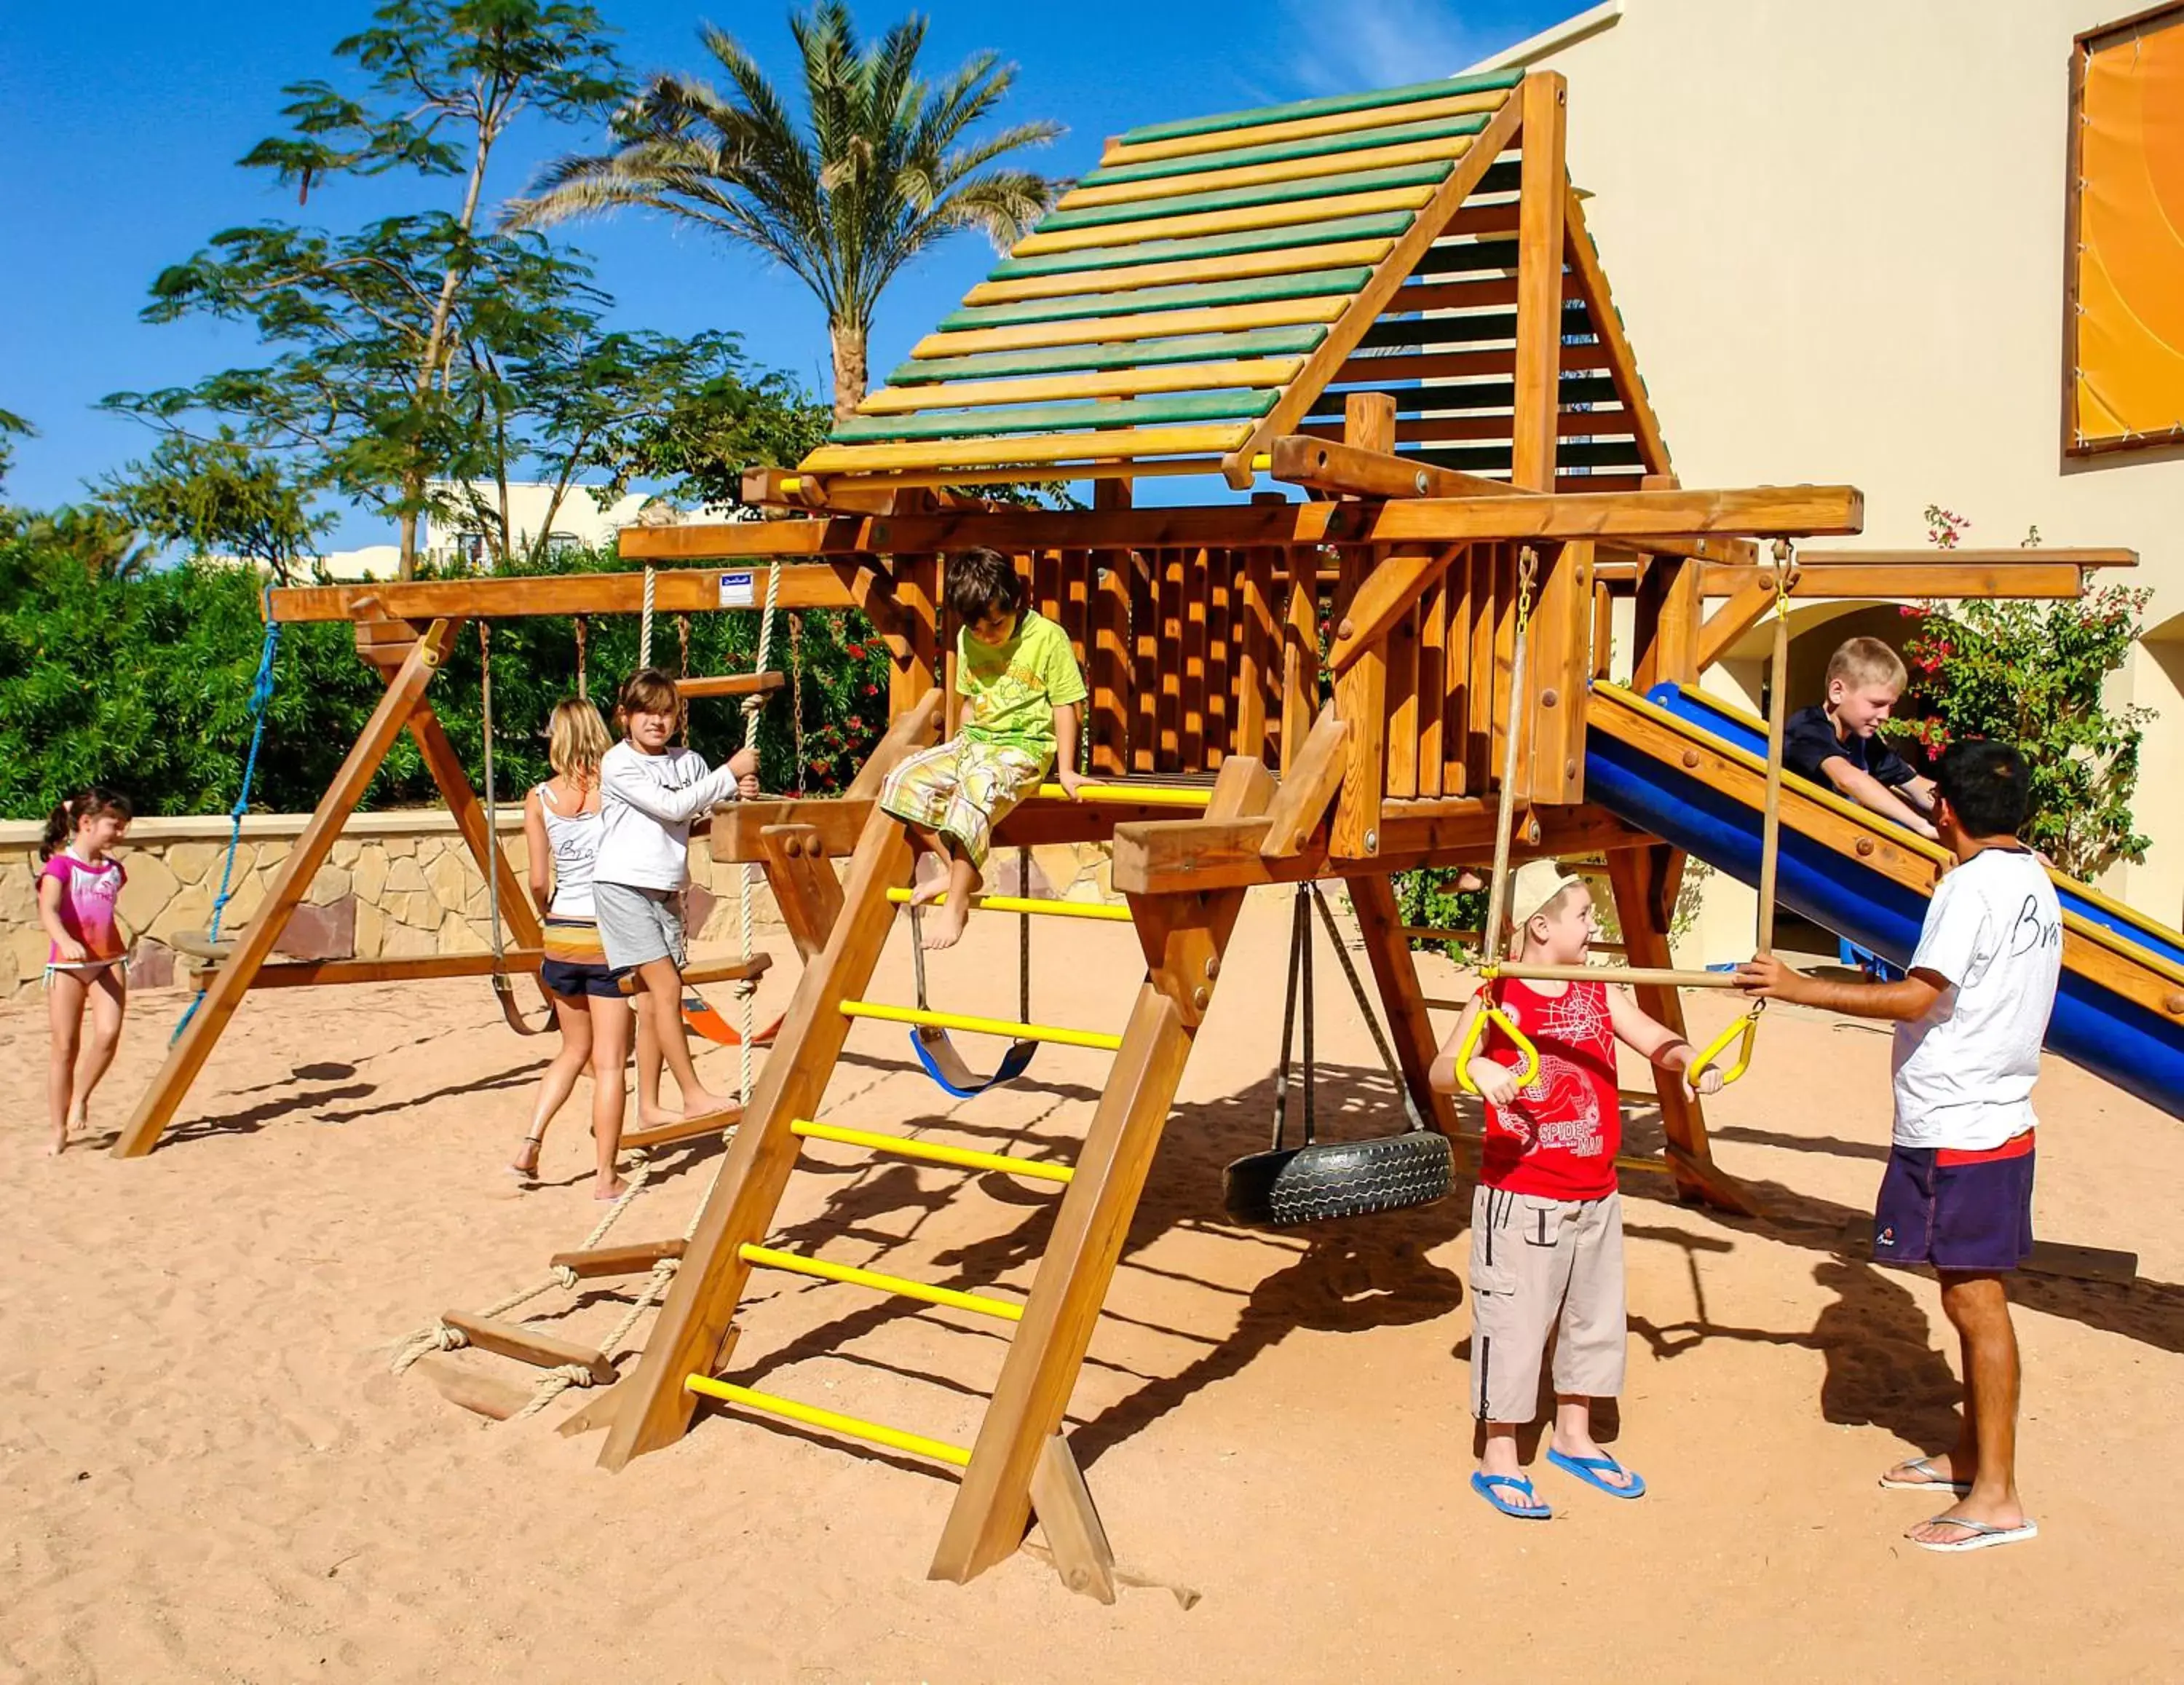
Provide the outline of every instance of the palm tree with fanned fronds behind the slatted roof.
[[865,343],[887,282],[928,245],[983,227],[998,249],[1035,223],[1059,184],[994,162],[1061,133],[1020,122],[965,140],[1016,83],[1016,66],[972,55],[939,85],[917,76],[926,20],[874,44],[843,0],[817,0],[788,28],[804,57],[799,125],[749,52],[705,26],[727,94],[697,76],[655,74],[614,118],[616,149],[550,164],[509,205],[539,227],[618,205],[651,205],[712,227],[793,271],[826,306],[834,415],[865,396]]

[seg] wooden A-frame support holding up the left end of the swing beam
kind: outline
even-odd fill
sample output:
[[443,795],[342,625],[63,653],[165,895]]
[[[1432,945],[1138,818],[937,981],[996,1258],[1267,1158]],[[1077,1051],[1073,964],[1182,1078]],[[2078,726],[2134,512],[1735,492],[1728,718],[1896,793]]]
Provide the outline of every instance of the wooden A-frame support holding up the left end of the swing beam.
[[[118,1158],[142,1158],[159,1145],[159,1136],[173,1123],[175,1112],[190,1093],[190,1084],[205,1069],[205,1060],[212,1058],[221,1032],[236,1016],[236,1008],[242,1005],[242,997],[288,929],[288,920],[310,889],[310,881],[325,865],[328,855],[332,855],[334,841],[341,837],[341,826],[365,798],[380,763],[404,730],[417,741],[417,752],[424,756],[432,782],[439,785],[439,793],[448,802],[448,811],[454,815],[456,830],[461,830],[472,859],[478,861],[478,870],[498,874],[500,916],[509,927],[511,944],[533,951],[539,946],[539,922],[531,909],[531,898],[522,892],[500,848],[500,839],[487,833],[485,804],[472,789],[470,776],[463,771],[463,761],[448,741],[448,732],[441,728],[430,702],[426,702],[432,675],[439,673],[461,625],[461,618],[450,616],[432,621],[422,634],[415,627],[391,627],[389,623],[358,632],[360,649],[389,673],[387,695],[380,697],[356,743],[349,745],[349,754],[334,774],[334,782],[325,787],[325,796],[312,809],[310,822],[295,839],[280,872],[275,872],[264,903],[236,938],[234,953],[218,964],[205,983],[197,1012],[192,1012],[188,1027],[175,1040],[173,1049],[168,1049],[166,1064],[159,1067],[151,1086],[138,1097],[135,1110],[114,1141]],[[367,647],[369,636],[389,629],[406,636],[400,643],[378,640]],[[376,975],[382,979],[402,977],[404,964],[400,959],[373,962]],[[432,959],[415,962],[415,975],[432,975]]]

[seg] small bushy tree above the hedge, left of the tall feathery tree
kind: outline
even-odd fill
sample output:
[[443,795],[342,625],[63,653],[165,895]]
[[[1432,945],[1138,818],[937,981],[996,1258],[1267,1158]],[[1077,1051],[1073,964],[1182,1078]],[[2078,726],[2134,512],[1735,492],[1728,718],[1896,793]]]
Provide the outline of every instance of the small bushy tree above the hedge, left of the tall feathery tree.
[[98,503],[159,544],[181,544],[192,557],[240,555],[284,586],[334,520],[310,511],[310,487],[286,463],[227,428],[212,439],[159,439],[149,461],[100,481]]

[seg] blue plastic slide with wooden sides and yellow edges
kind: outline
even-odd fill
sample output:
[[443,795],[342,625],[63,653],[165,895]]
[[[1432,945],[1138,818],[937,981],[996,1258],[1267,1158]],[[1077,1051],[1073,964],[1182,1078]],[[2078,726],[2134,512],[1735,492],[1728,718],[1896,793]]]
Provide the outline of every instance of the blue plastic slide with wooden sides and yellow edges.
[[[1760,874],[1767,732],[1673,684],[1597,684],[1586,800],[1743,883]],[[1942,850],[1793,774],[1782,780],[1778,896],[1902,966]],[[2049,1049],[2184,1117],[2184,935],[2062,874],[2064,973]]]

